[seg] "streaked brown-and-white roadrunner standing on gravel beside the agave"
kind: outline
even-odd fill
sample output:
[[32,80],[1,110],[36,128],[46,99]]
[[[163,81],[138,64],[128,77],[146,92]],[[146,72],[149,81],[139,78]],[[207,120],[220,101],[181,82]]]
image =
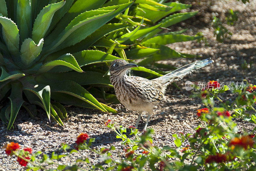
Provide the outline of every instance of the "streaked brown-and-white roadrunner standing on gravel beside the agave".
[[138,65],[127,63],[123,59],[116,59],[110,64],[110,82],[114,86],[117,99],[126,108],[139,112],[135,128],[138,128],[142,112],[148,113],[143,129],[146,130],[154,106],[160,102],[166,102],[164,94],[167,85],[213,62],[211,58],[196,61],[156,79],[148,80],[142,77],[128,76],[129,70]]

